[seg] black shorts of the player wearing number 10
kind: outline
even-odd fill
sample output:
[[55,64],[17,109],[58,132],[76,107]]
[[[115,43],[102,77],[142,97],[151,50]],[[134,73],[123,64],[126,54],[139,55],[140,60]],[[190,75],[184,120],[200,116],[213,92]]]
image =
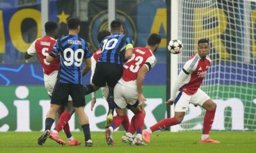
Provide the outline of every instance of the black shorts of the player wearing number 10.
[[97,87],[115,87],[118,80],[122,77],[123,65],[108,62],[97,62],[93,74],[92,83]]

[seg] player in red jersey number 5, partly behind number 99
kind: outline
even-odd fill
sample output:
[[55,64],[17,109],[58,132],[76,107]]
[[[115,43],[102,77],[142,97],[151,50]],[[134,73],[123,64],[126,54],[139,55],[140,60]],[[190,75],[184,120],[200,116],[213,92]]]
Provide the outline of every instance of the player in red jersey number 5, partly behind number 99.
[[[45,88],[49,94],[49,96],[52,96],[52,91],[54,88],[54,85],[57,80],[58,70],[60,68],[60,57],[56,57],[51,63],[46,61],[46,56],[51,53],[52,48],[54,47],[54,44],[56,43],[56,40],[54,39],[57,36],[58,33],[58,25],[53,21],[48,21],[45,23],[45,33],[46,36],[43,38],[38,38],[35,40],[32,45],[28,48],[28,51],[25,53],[24,57],[25,59],[31,58],[34,54],[37,54],[38,59],[40,60],[40,63],[42,65],[42,68],[44,70],[44,84]],[[65,131],[65,134],[68,138],[69,145],[80,145],[81,142],[74,139],[72,136],[68,120],[65,116],[71,115],[74,113],[74,107],[72,106],[72,99],[69,96],[68,97],[68,106],[66,107],[66,111],[64,111],[65,108],[61,106],[61,109],[58,111],[59,115],[59,122],[56,126],[56,129],[62,129],[61,126],[65,122],[65,126],[63,126],[63,130]],[[39,145],[43,145],[43,142],[38,142]]]

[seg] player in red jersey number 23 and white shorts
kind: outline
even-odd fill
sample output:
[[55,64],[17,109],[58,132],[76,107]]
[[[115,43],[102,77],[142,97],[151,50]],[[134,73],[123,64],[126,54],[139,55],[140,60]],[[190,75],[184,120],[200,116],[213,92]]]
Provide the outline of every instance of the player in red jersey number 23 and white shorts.
[[[156,52],[160,42],[161,36],[159,34],[150,34],[146,47],[134,48],[134,54],[132,54],[131,59],[124,64],[122,78],[114,89],[117,115],[113,118],[108,128],[109,145],[115,144],[113,143],[113,130],[124,120],[127,106],[134,112],[134,116],[129,126],[129,132],[122,136],[122,141],[130,144],[135,142],[136,145],[146,145],[141,135],[145,119],[143,109],[145,97],[143,96],[142,85],[145,75],[156,64],[156,57],[153,53]],[[136,136],[133,140],[135,132]]]

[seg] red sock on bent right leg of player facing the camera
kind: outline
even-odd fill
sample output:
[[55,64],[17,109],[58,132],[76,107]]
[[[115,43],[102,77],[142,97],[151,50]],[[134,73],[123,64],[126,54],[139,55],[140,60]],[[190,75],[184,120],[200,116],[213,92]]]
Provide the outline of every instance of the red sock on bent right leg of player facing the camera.
[[203,134],[204,135],[209,135],[211,127],[212,127],[212,122],[214,120],[216,109],[214,110],[207,110],[204,115],[204,129],[203,129]]

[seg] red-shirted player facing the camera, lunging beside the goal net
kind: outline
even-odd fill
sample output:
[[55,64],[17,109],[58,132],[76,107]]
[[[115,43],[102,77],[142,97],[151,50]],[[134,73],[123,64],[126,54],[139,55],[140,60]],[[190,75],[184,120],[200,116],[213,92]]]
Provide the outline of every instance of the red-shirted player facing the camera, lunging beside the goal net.
[[143,130],[143,140],[145,142],[150,142],[150,135],[152,132],[180,124],[188,110],[189,103],[193,103],[193,105],[202,106],[206,110],[203,133],[199,142],[220,143],[209,137],[209,132],[216,112],[216,104],[199,88],[204,80],[207,69],[211,65],[211,59],[207,56],[210,50],[209,41],[205,39],[199,40],[197,50],[198,53],[190,57],[183,66],[179,73],[179,77],[176,80],[176,84],[173,87],[172,96],[166,101],[167,105],[172,105],[174,103],[174,117],[163,119],[150,128]]

